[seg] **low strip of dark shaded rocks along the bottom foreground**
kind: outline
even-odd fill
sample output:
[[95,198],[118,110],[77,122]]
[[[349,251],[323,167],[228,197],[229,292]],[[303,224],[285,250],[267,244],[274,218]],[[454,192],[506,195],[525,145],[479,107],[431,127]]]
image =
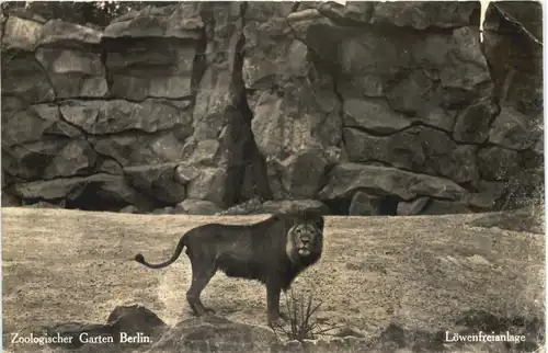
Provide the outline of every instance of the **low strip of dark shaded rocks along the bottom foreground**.
[[[503,318],[480,310],[464,311],[455,326],[459,331],[413,330],[390,323],[376,338],[346,329],[339,333],[300,341],[287,340],[275,331],[259,326],[230,321],[220,316],[186,319],[174,327],[165,324],[142,306],[116,307],[105,324],[66,322],[38,331],[49,337],[61,337],[65,343],[49,343],[56,352],[393,352],[408,349],[413,352],[532,352],[544,339],[544,322],[539,318]],[[38,333],[37,331],[37,333]],[[43,332],[43,333],[44,333]],[[450,332],[450,333],[449,333]],[[512,332],[510,342],[458,342],[456,335],[478,332]],[[522,341],[523,337],[523,341]],[[132,338],[132,339],[129,339]],[[453,340],[453,341],[452,341]],[[85,342],[87,341],[87,342]],[[102,343],[99,343],[102,342]]]

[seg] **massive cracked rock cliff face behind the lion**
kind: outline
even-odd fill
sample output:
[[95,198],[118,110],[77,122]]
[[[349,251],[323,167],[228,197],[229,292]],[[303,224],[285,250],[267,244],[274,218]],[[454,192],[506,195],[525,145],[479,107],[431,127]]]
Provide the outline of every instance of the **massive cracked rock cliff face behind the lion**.
[[481,42],[479,7],[187,2],[104,30],[3,14],[2,204],[520,205],[544,185],[541,9],[491,3]]

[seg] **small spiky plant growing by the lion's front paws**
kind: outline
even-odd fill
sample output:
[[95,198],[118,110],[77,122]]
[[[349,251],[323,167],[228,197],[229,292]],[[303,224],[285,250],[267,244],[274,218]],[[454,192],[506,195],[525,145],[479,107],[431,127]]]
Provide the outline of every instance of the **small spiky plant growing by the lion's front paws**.
[[327,327],[320,324],[316,312],[322,301],[315,300],[312,294],[305,297],[302,293],[295,295],[290,291],[289,295],[285,294],[285,298],[289,322],[272,327],[276,337],[282,335],[289,341],[302,342],[304,340],[315,340],[319,335],[330,335],[328,332],[338,328],[333,324]]

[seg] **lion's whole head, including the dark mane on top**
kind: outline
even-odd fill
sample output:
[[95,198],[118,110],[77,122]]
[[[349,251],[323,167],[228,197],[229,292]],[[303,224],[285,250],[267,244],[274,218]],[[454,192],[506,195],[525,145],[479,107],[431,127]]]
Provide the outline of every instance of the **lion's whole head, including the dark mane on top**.
[[287,230],[286,253],[294,263],[316,262],[323,248],[323,217],[299,217]]

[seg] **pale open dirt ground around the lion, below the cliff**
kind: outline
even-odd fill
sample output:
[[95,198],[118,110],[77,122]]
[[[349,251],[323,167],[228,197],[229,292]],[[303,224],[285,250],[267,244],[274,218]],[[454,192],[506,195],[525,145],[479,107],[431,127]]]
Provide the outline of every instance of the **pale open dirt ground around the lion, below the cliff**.
[[[479,216],[327,217],[323,257],[294,289],[322,300],[323,321],[366,337],[389,322],[450,328],[467,309],[544,318],[544,236],[466,224]],[[265,217],[2,208],[4,344],[39,326],[104,322],[118,305],[141,304],[170,324],[189,318],[187,258],[150,270],[133,257],[160,262],[193,227]],[[259,283],[218,273],[203,301],[231,320],[265,324]]]

